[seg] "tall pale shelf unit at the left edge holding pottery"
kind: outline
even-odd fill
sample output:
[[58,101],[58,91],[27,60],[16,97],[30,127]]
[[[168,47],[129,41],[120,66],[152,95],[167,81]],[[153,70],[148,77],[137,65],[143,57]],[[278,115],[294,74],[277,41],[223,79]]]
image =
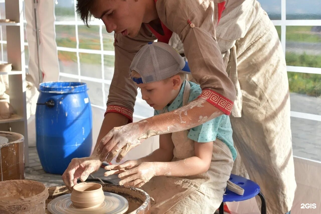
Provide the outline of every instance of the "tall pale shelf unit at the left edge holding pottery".
[[12,63],[13,68],[13,71],[0,72],[0,75],[8,75],[8,94],[15,112],[12,118],[0,120],[0,130],[17,132],[24,136],[24,160],[25,166],[29,166],[22,3],[22,0],[6,0],[5,18],[16,23],[0,22],[0,25],[6,28],[8,63]]

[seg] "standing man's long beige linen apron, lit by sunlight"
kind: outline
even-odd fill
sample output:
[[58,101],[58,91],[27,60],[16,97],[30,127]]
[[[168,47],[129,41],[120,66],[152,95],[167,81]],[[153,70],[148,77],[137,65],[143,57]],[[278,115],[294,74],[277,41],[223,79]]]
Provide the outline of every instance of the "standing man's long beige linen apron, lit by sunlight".
[[[245,1],[241,7],[245,6],[257,15],[240,39],[233,39],[238,22],[225,26],[234,14],[223,17],[216,28],[224,65],[236,89],[230,120],[238,156],[232,173],[260,185],[267,213],[284,214],[291,210],[296,189],[285,58],[267,13],[257,1]],[[190,75],[188,79],[193,81]]]

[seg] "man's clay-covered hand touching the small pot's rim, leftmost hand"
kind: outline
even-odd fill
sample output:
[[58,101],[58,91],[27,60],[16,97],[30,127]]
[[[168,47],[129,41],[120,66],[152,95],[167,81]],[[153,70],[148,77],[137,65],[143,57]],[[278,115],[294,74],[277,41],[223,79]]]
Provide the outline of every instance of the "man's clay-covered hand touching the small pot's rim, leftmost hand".
[[78,178],[84,182],[91,173],[99,169],[101,164],[102,162],[97,154],[89,157],[73,158],[62,175],[66,187],[72,191],[72,187],[77,184]]

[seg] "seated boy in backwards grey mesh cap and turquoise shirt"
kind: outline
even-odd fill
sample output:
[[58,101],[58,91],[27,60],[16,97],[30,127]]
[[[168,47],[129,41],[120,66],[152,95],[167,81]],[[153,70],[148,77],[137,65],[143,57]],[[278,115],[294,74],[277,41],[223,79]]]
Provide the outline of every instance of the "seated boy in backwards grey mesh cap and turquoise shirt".
[[[161,42],[143,46],[130,67],[155,115],[201,94],[199,85],[185,80],[185,73],[187,62]],[[235,157],[230,118],[221,115],[189,130],[160,135],[159,148],[150,155],[106,166],[110,171],[105,176],[120,173],[120,185],[141,187],[155,200],[152,213],[210,214],[221,204]]]

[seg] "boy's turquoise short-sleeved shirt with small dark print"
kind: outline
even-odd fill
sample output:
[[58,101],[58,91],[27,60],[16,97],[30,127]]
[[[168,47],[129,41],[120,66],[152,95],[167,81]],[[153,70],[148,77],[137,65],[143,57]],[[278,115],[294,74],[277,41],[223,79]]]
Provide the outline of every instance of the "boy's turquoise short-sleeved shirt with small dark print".
[[[167,111],[174,111],[175,109],[183,106],[185,81],[183,82],[182,87],[174,101],[170,103],[169,106],[165,107]],[[188,103],[195,100],[202,93],[199,85],[193,82],[189,82],[189,84],[191,86],[191,89]],[[158,114],[160,114],[160,111],[155,110],[154,115]],[[218,138],[229,147],[233,156],[233,160],[235,160],[237,156],[232,139],[230,117],[226,114],[223,114],[217,118],[214,118],[213,120],[209,120],[208,122],[189,129],[187,137],[199,143],[214,141],[216,138]]]

